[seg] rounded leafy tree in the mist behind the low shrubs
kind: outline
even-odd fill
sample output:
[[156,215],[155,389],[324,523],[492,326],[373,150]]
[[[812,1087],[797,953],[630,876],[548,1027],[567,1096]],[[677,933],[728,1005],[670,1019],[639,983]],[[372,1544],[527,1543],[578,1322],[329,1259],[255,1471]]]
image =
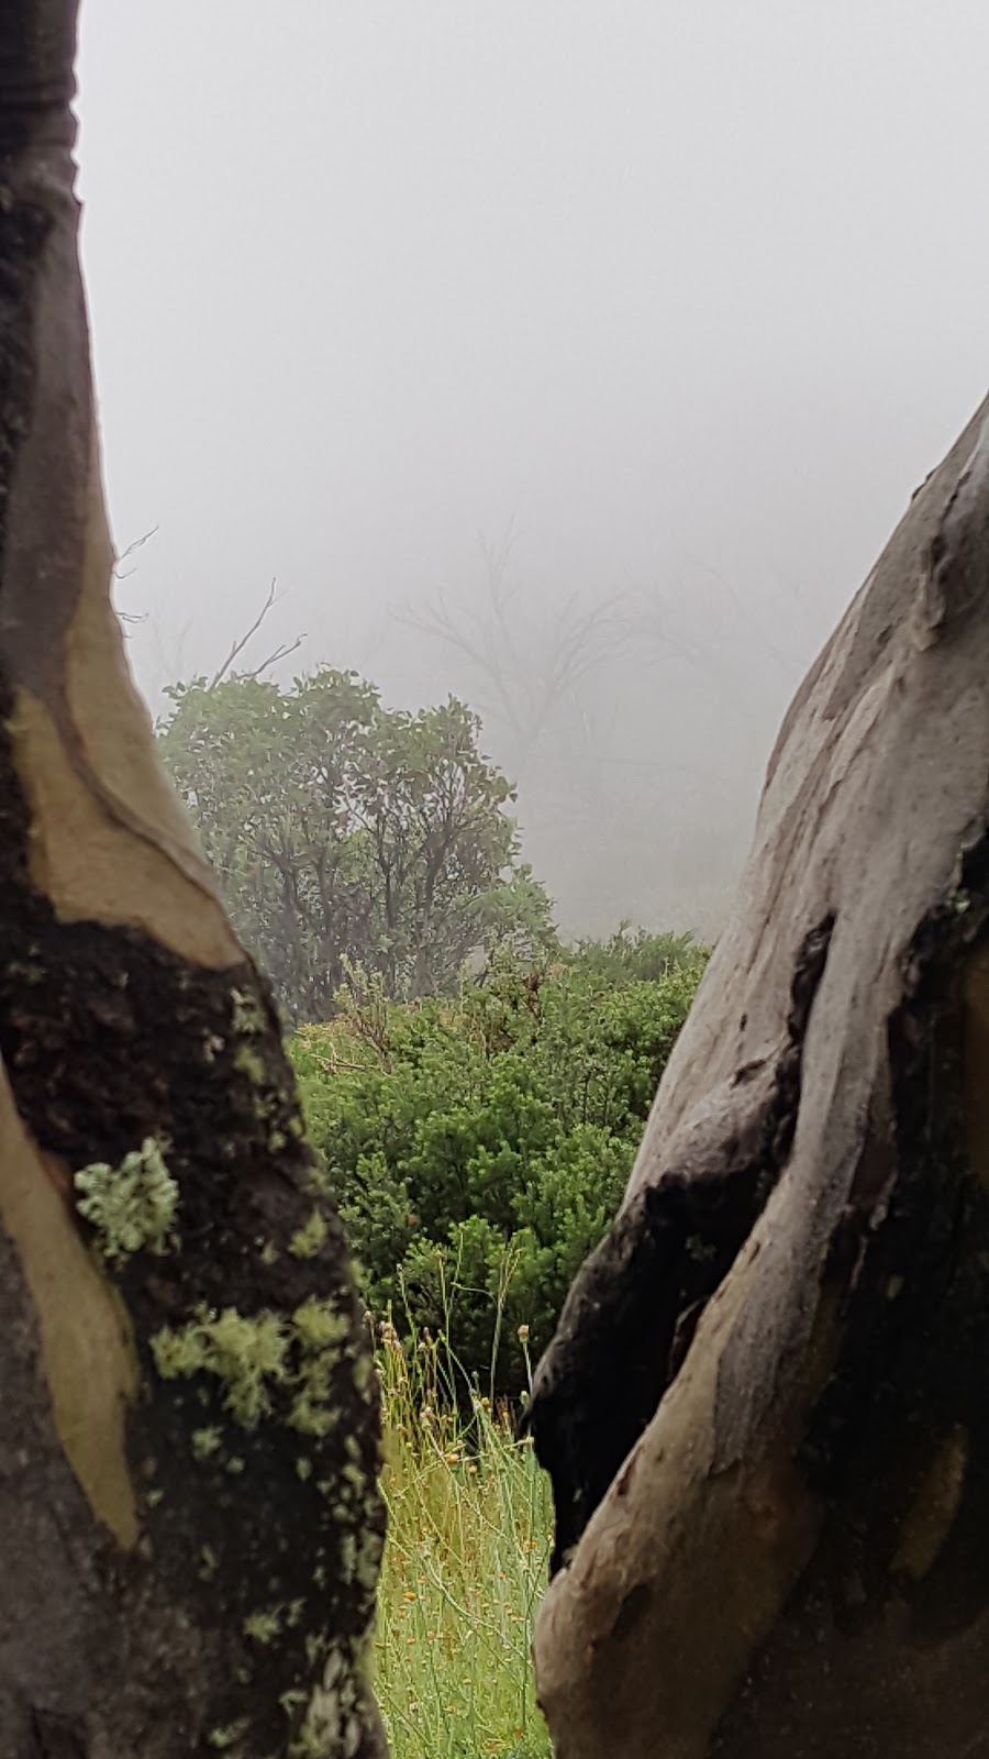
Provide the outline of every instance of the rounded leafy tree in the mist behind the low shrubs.
[[494,946],[549,945],[512,792],[463,704],[385,709],[329,668],[290,691],[234,677],[169,695],[162,756],[292,1018],[329,1018],[352,966],[410,999],[454,990]]

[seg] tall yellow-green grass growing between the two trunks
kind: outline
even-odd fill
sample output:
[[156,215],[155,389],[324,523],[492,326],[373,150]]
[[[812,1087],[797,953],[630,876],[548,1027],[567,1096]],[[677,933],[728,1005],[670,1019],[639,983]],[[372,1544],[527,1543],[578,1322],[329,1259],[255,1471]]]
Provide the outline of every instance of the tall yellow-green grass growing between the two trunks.
[[[445,1340],[378,1326],[389,1539],[377,1692],[392,1759],[549,1759],[531,1634],[549,1483],[484,1395],[454,1409]],[[524,1339],[521,1340],[524,1346]]]

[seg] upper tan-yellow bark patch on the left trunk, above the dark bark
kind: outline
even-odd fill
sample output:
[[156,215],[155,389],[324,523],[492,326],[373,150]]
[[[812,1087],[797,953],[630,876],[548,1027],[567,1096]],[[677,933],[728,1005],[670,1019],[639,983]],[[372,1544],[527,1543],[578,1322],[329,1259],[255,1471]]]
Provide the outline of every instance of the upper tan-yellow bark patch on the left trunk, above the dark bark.
[[243,959],[155,751],[109,602],[113,552],[93,443],[83,579],[65,639],[72,751],[37,695],[14,693],[14,763],[28,799],[30,876],[56,915],[144,929],[194,964]]

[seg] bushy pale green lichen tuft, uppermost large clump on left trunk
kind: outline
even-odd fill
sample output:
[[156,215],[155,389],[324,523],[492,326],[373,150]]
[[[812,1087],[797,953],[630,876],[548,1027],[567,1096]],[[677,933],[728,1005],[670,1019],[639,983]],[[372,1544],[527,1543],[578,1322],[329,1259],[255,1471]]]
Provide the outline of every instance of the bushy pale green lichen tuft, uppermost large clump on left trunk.
[[146,1136],[120,1166],[93,1161],[74,1177],[79,1214],[97,1231],[100,1252],[125,1263],[134,1252],[162,1256],[176,1242],[178,1184],[165,1166],[165,1145]]

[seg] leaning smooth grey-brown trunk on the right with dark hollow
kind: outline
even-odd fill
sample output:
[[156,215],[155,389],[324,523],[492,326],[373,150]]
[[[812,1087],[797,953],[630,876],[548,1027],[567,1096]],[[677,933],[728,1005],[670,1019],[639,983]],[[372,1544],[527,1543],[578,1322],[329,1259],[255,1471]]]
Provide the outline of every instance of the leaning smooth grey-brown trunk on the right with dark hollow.
[[989,399],[801,686],[531,1423],[558,1759],[989,1754]]

